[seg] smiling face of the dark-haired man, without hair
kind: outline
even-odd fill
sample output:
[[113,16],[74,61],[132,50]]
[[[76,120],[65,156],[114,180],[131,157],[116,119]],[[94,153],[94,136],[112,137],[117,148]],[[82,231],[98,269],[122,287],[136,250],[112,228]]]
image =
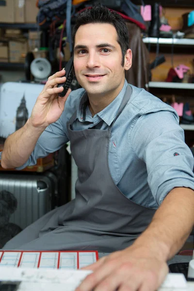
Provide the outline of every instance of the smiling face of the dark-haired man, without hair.
[[[122,52],[113,25],[81,25],[75,35],[74,68],[89,96],[120,92],[125,80]],[[119,90],[118,90],[119,89]]]

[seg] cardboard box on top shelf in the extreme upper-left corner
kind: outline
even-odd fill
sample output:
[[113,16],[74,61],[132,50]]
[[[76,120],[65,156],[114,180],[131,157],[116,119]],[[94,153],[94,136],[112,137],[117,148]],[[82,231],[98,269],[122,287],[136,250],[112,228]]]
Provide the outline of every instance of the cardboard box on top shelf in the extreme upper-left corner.
[[14,23],[15,0],[5,0],[5,6],[0,6],[0,22]]

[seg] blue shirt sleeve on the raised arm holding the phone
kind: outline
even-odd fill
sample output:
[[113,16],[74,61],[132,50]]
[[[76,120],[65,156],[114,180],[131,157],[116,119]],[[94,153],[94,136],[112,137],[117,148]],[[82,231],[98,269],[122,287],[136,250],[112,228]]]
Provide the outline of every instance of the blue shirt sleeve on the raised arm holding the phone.
[[[68,142],[67,135],[61,119],[50,124],[39,137],[34,150],[28,161],[16,167],[16,170],[24,169],[27,166],[35,165],[38,158],[44,158],[50,153],[57,151]],[[0,153],[1,158],[1,153]]]

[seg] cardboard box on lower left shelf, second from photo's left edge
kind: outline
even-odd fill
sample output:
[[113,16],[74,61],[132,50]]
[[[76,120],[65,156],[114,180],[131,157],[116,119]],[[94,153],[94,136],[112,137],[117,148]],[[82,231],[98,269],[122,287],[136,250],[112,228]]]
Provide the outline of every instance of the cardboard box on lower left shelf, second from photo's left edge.
[[9,41],[10,63],[24,63],[27,52],[28,44],[26,40]]

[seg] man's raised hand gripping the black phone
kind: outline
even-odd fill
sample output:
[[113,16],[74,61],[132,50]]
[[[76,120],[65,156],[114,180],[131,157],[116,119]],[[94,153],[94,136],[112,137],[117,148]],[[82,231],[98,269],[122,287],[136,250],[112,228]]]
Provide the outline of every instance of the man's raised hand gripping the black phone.
[[57,121],[63,113],[65,101],[71,92],[69,89],[64,97],[58,97],[64,88],[62,86],[58,88],[57,85],[66,81],[64,75],[65,70],[63,69],[49,77],[32,109],[30,117],[32,126],[46,128]]

